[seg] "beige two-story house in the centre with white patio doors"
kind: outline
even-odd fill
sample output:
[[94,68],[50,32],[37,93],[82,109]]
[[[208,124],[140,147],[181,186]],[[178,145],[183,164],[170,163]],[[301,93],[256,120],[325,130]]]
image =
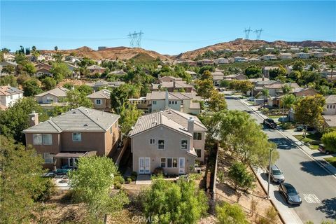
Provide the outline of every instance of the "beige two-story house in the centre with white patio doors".
[[195,160],[204,162],[206,131],[197,117],[172,109],[141,116],[130,132],[133,171],[187,174]]

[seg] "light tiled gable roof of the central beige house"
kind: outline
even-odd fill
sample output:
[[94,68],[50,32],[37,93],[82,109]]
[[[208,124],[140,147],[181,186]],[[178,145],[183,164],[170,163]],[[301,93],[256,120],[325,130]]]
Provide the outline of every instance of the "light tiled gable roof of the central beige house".
[[140,134],[147,130],[151,130],[152,128],[158,127],[159,125],[164,125],[172,130],[175,130],[176,132],[181,132],[181,134],[191,136],[191,134],[188,132],[189,118],[194,119],[195,131],[207,131],[207,128],[196,116],[192,116],[188,113],[183,113],[172,109],[167,109],[165,111],[150,113],[145,116],[141,116],[137,120],[137,123],[134,125],[133,130],[131,130],[130,137],[133,137],[134,135]]

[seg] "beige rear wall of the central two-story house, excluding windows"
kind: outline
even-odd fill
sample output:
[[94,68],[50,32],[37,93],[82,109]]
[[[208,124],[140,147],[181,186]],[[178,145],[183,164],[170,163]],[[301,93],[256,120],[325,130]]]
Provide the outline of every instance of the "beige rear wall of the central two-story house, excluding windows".
[[[155,139],[155,144],[151,145],[150,139]],[[165,139],[164,150],[158,150],[158,139]],[[182,139],[188,139],[188,147],[190,147],[190,141],[193,141],[192,137],[163,126],[132,137],[133,171],[139,174],[139,158],[151,158],[151,172],[161,166],[161,158],[177,158],[177,167],[167,168],[166,162],[164,171],[167,174],[179,174],[179,158],[185,158],[185,173],[188,173],[190,167],[195,164],[195,157],[189,155],[185,150],[181,150]]]

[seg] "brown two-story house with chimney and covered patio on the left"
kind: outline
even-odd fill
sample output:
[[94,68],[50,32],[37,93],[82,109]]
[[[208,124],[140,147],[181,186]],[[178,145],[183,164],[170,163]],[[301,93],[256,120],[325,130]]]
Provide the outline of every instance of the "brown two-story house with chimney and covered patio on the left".
[[78,158],[110,156],[119,139],[120,116],[83,106],[38,123],[38,113],[29,115],[31,127],[23,130],[26,146],[33,146],[44,159],[43,167],[74,167]]

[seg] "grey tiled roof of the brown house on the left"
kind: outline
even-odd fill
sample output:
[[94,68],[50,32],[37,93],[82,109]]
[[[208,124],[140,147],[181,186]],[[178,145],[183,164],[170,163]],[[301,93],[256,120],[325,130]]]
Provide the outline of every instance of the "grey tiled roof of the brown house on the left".
[[23,133],[106,132],[120,116],[80,106],[23,130]]

